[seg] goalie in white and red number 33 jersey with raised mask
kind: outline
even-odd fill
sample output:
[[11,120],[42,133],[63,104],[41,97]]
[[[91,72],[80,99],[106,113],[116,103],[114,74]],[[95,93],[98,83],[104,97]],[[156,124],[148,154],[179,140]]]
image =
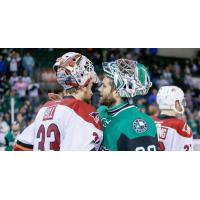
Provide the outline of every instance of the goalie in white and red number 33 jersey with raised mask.
[[101,121],[88,104],[96,76],[91,61],[70,52],[56,60],[54,69],[65,96],[39,110],[34,123],[19,136],[15,150],[98,150]]

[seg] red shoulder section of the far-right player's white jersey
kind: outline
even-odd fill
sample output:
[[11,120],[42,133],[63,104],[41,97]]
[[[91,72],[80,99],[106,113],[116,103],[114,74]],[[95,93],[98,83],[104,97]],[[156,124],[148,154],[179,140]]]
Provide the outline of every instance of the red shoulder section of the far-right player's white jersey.
[[168,118],[168,119],[159,119],[154,117],[155,121],[162,122],[162,125],[171,127],[177,131],[177,133],[183,137],[190,138],[192,137],[192,130],[191,128],[181,119],[177,118]]

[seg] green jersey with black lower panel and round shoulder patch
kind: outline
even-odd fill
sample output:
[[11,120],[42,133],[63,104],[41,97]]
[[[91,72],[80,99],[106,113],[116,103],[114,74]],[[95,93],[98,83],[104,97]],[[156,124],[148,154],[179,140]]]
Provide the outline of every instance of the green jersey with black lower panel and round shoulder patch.
[[127,102],[98,109],[103,125],[102,147],[112,151],[155,151],[157,132],[154,121]]

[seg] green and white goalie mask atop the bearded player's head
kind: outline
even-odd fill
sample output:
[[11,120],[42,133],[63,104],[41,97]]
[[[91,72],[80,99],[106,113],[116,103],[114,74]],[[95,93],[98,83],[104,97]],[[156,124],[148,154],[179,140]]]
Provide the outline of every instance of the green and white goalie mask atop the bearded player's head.
[[106,76],[114,80],[120,97],[146,95],[152,86],[147,69],[136,61],[118,59],[103,63],[103,69]]

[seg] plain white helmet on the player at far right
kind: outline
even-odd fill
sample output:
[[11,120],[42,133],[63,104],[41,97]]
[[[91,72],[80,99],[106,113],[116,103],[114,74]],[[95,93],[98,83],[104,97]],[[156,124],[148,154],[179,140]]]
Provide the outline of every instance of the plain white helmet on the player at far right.
[[[174,110],[176,113],[183,114],[185,98],[183,91],[176,86],[163,86],[159,89],[157,97],[157,104],[161,110]],[[178,111],[175,107],[176,101],[179,101],[182,111]]]

